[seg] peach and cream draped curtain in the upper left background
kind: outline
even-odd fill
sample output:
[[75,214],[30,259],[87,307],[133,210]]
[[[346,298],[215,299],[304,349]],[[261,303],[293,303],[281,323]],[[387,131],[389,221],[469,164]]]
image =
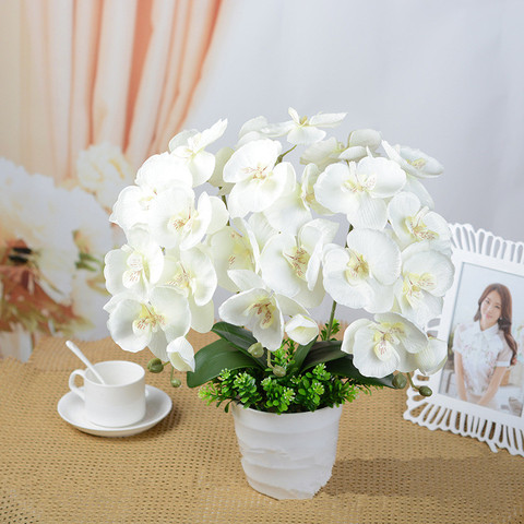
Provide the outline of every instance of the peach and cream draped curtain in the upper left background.
[[191,105],[221,3],[11,2],[21,27],[21,93],[10,138],[17,151],[3,156],[64,180],[90,144],[118,145],[135,167],[165,151]]

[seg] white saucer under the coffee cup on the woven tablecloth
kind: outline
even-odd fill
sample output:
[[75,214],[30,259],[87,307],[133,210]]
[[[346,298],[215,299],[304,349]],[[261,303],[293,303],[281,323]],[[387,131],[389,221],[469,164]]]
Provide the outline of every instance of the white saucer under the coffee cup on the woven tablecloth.
[[85,418],[84,403],[72,391],[66,393],[58,402],[58,414],[71,426],[80,429],[84,433],[96,434],[98,437],[131,437],[141,433],[146,429],[158,424],[170,410],[172,406],[171,398],[167,393],[153,385],[145,385],[147,390],[145,416],[142,420],[132,426],[121,428],[105,428],[97,426]]

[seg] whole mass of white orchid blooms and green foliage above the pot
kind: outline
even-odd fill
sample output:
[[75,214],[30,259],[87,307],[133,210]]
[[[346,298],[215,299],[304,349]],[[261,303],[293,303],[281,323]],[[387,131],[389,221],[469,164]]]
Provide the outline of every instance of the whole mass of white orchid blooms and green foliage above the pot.
[[[225,120],[177,134],[120,193],[111,221],[127,243],[105,266],[120,347],[150,347],[152,371],[187,371],[209,402],[276,413],[439,370],[446,344],[426,331],[454,272],[450,230],[422,184],[442,172],[436,159],[369,129],[326,139],[344,114],[289,115],[248,121],[236,146],[216,154],[207,147]],[[301,177],[288,162],[298,146]],[[214,324],[219,293],[229,296]],[[311,310],[325,300],[321,330]],[[337,307],[365,314],[342,340]],[[218,340],[194,354],[190,329]]]

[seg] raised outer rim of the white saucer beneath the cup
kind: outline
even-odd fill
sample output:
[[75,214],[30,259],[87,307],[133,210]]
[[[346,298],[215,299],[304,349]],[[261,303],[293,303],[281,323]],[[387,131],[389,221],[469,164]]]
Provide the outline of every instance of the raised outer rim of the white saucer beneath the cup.
[[[104,426],[98,426],[94,422],[91,422],[90,420],[76,420],[72,418],[71,416],[66,415],[66,409],[64,409],[64,404],[70,401],[71,398],[78,398],[78,396],[72,392],[68,391],[59,401],[57,404],[57,412],[60,418],[68,422],[69,425],[73,426],[78,430],[84,432],[84,433],[90,433],[94,434],[96,437],[131,437],[133,434],[138,434],[140,432],[146,431],[147,429],[151,429],[153,426],[158,424],[162,419],[164,419],[172,409],[172,401],[171,397],[163,390],[155,388],[154,385],[145,384],[146,390],[152,390],[155,394],[158,394],[159,396],[163,397],[163,401],[166,403],[165,407],[158,410],[158,414],[156,414],[154,417],[151,418],[143,418],[139,422],[128,425],[128,426],[120,426],[117,428],[108,428]],[[150,393],[151,394],[151,393]],[[167,402],[166,402],[167,401]],[[146,398],[147,403],[147,398]],[[68,414],[71,413],[71,409],[68,410]],[[147,412],[146,412],[147,413]]]

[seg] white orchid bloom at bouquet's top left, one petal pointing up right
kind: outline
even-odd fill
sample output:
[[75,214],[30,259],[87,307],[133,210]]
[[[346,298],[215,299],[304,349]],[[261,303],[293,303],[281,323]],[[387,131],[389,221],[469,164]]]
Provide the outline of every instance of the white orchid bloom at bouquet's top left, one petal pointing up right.
[[213,175],[215,157],[205,150],[218,140],[227,128],[227,120],[218,120],[210,129],[182,131],[169,141],[170,154],[186,163],[193,177],[192,186],[204,183]]

